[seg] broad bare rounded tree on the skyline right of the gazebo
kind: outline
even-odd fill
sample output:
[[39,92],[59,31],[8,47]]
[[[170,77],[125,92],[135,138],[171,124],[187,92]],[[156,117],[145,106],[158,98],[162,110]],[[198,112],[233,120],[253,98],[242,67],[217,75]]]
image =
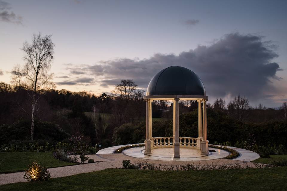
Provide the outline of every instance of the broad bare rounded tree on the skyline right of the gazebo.
[[227,105],[228,114],[232,115],[239,121],[245,121],[248,118],[249,111],[252,107],[249,106],[249,101],[245,97],[238,95]]

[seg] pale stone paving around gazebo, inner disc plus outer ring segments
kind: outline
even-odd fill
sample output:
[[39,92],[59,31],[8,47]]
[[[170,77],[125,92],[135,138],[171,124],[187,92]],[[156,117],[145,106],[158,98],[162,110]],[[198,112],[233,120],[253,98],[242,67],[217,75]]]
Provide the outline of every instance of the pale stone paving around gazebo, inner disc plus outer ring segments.
[[[129,144],[127,144],[129,145]],[[102,149],[97,152],[97,155],[99,154],[112,154],[115,153],[115,150],[119,149],[120,147],[124,147],[127,145],[117,145],[114,147],[108,147],[105,149]],[[239,152],[239,157],[233,158],[231,160],[236,161],[245,161],[250,162],[257,158],[259,158],[259,155],[257,153],[254,153],[250,150],[240,149],[236,147],[229,147],[237,152]],[[134,147],[123,151],[123,154],[135,158],[142,158],[142,159],[148,159],[148,160],[156,160],[156,161],[205,161],[205,160],[213,160],[213,159],[219,159],[224,158],[229,155],[229,152],[222,150],[222,149],[215,149],[215,148],[209,148],[209,150],[215,150],[216,152],[210,152],[207,156],[200,155],[200,151],[195,148],[180,148],[180,155],[181,158],[173,158],[173,150],[172,148],[158,148],[153,149],[151,155],[144,155],[144,147]]]

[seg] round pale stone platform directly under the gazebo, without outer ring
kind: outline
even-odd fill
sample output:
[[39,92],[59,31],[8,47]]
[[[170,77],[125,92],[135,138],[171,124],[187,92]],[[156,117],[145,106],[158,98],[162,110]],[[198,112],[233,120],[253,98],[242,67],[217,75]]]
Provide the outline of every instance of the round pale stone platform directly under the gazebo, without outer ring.
[[204,156],[200,154],[200,150],[194,148],[180,148],[179,154],[181,158],[173,158],[173,148],[157,148],[152,150],[152,154],[144,155],[144,147],[135,147],[126,149],[123,154],[148,160],[157,161],[205,161],[218,158],[224,158],[229,155],[229,152],[222,149],[209,148],[216,152],[210,152],[209,155]]

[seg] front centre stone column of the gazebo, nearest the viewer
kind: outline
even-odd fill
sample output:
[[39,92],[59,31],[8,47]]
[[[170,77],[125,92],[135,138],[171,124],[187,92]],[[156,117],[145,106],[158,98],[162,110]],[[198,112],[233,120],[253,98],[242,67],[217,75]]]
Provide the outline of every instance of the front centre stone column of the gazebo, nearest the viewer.
[[179,155],[179,121],[178,121],[178,101],[179,101],[179,98],[174,98],[174,102],[173,104],[175,105],[174,106],[174,121],[173,121],[173,124],[174,124],[174,127],[175,127],[175,133],[174,133],[174,155],[173,155],[173,158],[180,158],[180,155]]

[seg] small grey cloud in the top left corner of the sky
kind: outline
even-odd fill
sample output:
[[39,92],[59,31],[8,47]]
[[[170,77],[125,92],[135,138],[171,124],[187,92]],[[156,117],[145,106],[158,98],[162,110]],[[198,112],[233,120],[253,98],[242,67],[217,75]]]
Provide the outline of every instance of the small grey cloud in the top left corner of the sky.
[[22,24],[22,16],[10,11],[10,4],[0,0],[0,21]]

